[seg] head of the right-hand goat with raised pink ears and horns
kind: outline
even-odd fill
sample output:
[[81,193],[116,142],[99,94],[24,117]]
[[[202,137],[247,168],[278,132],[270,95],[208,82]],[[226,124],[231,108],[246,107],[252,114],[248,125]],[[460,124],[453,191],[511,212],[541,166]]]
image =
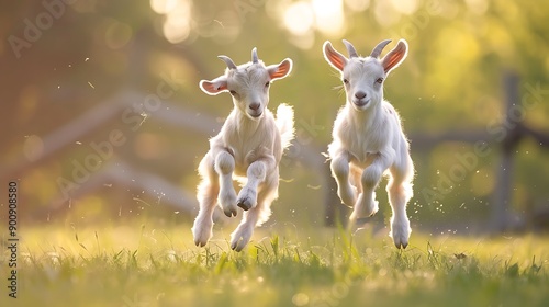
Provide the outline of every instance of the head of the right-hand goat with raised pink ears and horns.
[[399,41],[396,47],[382,59],[379,56],[391,41],[379,43],[368,57],[358,56],[349,42],[345,39],[343,42],[349,58],[335,50],[328,41],[324,43],[323,50],[326,61],[341,72],[347,103],[357,111],[379,104],[383,99],[383,81],[389,72],[406,58],[406,41]]

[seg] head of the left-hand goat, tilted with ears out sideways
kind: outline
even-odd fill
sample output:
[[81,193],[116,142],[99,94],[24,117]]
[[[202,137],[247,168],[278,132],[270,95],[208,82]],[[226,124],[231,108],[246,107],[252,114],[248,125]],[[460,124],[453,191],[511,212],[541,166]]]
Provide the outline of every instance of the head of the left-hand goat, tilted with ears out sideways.
[[235,107],[249,118],[260,118],[269,103],[269,86],[277,79],[287,77],[292,70],[292,60],[287,58],[280,64],[265,66],[257,57],[257,49],[251,50],[251,61],[236,66],[227,56],[219,56],[227,69],[223,76],[211,81],[200,81],[200,89],[206,94],[216,95],[229,92]]

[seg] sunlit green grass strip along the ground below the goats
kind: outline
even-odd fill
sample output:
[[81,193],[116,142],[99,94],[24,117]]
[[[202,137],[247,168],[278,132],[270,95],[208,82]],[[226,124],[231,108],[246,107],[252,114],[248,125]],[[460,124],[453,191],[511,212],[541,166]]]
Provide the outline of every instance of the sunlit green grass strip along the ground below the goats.
[[237,253],[231,227],[202,249],[189,228],[27,227],[0,306],[549,306],[547,237],[415,231],[399,251],[386,232],[260,228]]

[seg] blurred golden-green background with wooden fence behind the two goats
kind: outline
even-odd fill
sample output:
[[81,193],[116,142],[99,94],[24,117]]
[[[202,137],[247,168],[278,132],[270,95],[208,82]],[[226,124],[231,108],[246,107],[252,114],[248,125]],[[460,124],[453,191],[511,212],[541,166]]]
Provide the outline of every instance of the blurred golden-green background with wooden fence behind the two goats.
[[[344,220],[322,155],[344,94],[322,44],[345,52],[345,38],[369,55],[382,39],[393,39],[389,50],[404,38],[408,57],[385,98],[412,143],[413,227],[548,228],[546,2],[66,2],[2,4],[2,218],[8,182],[18,181],[23,223],[191,221],[195,168],[232,107],[226,94],[202,93],[199,80],[224,71],[217,55],[243,64],[257,47],[267,64],[294,62],[270,93],[271,110],[294,105],[298,138],[268,225]],[[371,220],[379,228],[390,217],[384,184]]]

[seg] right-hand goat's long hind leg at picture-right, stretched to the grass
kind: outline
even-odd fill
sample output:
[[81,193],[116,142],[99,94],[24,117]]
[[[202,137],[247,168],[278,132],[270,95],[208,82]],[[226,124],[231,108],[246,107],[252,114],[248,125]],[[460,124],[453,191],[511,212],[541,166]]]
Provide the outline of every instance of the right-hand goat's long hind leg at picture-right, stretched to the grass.
[[396,248],[406,248],[410,240],[410,219],[406,214],[406,203],[412,198],[412,180],[414,166],[412,159],[407,157],[403,166],[393,166],[391,179],[386,185],[389,202],[393,211],[391,217],[391,234]]

